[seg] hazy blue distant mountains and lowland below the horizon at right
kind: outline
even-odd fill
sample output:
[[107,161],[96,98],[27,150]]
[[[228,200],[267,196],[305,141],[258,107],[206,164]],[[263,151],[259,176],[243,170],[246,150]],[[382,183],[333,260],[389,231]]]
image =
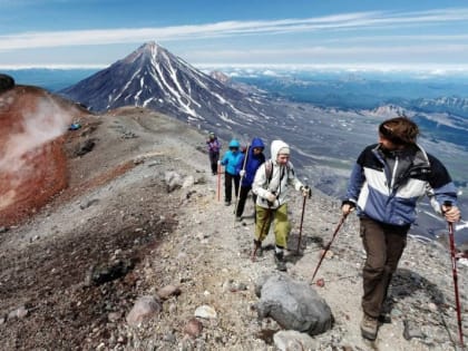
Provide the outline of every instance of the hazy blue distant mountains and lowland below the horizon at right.
[[381,118],[406,115],[420,125],[427,139],[445,140],[468,152],[468,97],[459,96],[468,91],[466,81],[389,77],[282,72],[271,77],[241,75],[236,80],[253,85],[272,98],[312,104],[326,110],[335,108]]

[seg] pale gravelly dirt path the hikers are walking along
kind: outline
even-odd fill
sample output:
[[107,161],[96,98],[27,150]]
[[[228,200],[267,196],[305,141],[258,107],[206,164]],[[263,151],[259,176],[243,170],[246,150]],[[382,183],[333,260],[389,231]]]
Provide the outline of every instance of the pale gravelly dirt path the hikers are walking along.
[[[270,233],[265,242],[269,250],[264,256],[252,263],[253,217],[247,216],[242,223],[234,223],[233,206],[226,207],[222,201],[217,202],[216,177],[208,177],[207,185],[196,188],[197,194],[181,208],[184,221],[160,246],[164,255],[152,261],[159,273],[155,274],[153,284],[178,284],[183,293],[166,304],[167,310],[158,321],[144,329],[152,333],[157,330],[156,335],[143,333],[134,339],[133,347],[164,349],[178,344],[208,350],[274,350],[272,335],[281,328],[270,319],[259,321],[254,309],[257,302],[254,287],[259,277],[277,273],[273,262],[273,235]],[[298,243],[301,209],[302,198],[293,197],[290,206],[293,222],[290,247],[293,248]],[[248,202],[245,214],[252,212]],[[306,203],[302,233],[304,251],[299,256],[294,251],[290,252],[287,274],[311,282],[321,247],[331,238],[340,218],[338,201],[314,194]],[[364,253],[358,237],[357,218],[347,220],[318,274],[318,279],[323,279],[325,284],[323,287],[314,285],[330,304],[335,318],[331,331],[315,337],[318,350],[452,348],[450,338],[456,338],[454,311],[447,309],[446,302],[442,303],[452,301],[448,262],[440,256],[438,246],[421,245],[412,240],[408,246],[392,287],[392,322],[380,328],[376,342],[367,342],[359,330]],[[427,265],[419,266],[419,257],[425,257]],[[466,274],[466,271],[461,273]],[[215,309],[216,320],[203,321],[204,331],[199,339],[184,339],[181,331],[193,318],[195,309],[204,304]],[[406,340],[403,333],[407,322],[418,323],[426,337]],[[446,323],[450,326],[447,328]]]

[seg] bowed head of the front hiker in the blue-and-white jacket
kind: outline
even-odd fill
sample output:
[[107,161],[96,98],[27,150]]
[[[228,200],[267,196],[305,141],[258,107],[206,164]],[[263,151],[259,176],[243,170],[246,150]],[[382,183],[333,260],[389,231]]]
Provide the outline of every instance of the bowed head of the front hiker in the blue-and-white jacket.
[[416,144],[418,135],[418,125],[404,116],[387,119],[379,126],[379,144],[389,150]]

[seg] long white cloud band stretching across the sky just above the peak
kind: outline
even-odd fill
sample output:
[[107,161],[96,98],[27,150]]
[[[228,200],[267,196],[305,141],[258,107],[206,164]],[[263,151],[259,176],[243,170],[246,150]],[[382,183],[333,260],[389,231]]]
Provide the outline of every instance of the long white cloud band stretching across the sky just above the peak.
[[[0,36],[0,51],[82,45],[111,45],[148,40],[206,39],[228,36],[337,31],[343,29],[420,27],[468,20],[468,9],[440,9],[422,12],[354,12],[306,19],[262,21],[224,21],[199,26],[160,28],[117,28],[22,32]],[[448,36],[450,37],[450,36]]]

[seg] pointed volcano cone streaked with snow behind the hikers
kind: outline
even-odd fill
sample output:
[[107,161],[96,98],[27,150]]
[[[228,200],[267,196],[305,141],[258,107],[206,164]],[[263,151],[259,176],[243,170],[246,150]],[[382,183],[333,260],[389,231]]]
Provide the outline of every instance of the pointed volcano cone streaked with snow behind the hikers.
[[126,105],[155,109],[205,128],[218,120],[235,124],[263,115],[262,104],[226,85],[221,72],[208,76],[155,42],[60,94],[103,111]]

